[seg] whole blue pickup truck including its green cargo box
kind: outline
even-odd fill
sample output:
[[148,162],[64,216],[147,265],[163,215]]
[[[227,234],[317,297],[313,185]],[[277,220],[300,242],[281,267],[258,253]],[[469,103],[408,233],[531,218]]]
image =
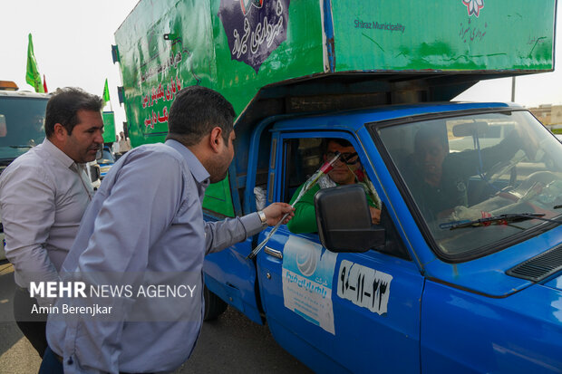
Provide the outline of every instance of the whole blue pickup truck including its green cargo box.
[[140,0],[112,48],[132,145],[165,139],[188,85],[237,112],[206,219],[289,202],[324,139],[354,147],[380,199],[374,225],[363,187],[321,188],[318,233],[281,225],[255,258],[271,228],[208,255],[206,319],[230,305],[322,373],[561,372],[562,145],[515,104],[451,102],[554,70],[555,14],[555,0]]

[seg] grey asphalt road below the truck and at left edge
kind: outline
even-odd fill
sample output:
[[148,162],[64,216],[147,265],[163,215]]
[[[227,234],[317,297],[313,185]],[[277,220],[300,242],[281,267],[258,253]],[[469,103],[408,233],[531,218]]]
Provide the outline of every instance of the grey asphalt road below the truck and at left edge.
[[[36,373],[39,355],[13,322],[14,269],[0,263],[0,374]],[[205,322],[199,342],[175,374],[312,373],[273,340],[267,326],[247,320],[233,308]]]

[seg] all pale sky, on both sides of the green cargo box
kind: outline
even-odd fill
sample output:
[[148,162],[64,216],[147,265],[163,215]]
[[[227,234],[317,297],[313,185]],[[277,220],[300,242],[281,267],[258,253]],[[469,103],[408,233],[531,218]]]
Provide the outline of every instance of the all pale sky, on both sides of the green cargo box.
[[[0,80],[15,81],[20,90],[33,91],[25,82],[27,35],[32,33],[39,72],[45,75],[49,91],[77,86],[101,96],[107,78],[115,127],[120,131],[126,119],[117,97],[121,74],[119,65],[111,60],[111,44],[115,43],[113,34],[137,3],[138,0],[0,0]],[[561,42],[559,32],[555,62],[562,61]],[[479,82],[455,100],[511,101],[511,78]],[[518,77],[515,101],[528,107],[562,104],[562,64],[555,72]],[[105,110],[110,110],[109,104]]]

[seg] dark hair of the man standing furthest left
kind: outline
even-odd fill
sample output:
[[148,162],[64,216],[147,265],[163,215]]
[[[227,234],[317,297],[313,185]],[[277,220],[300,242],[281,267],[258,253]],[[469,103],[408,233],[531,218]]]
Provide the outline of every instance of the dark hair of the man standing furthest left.
[[53,93],[45,112],[45,135],[51,137],[54,125],[60,123],[68,134],[78,124],[78,110],[101,111],[103,100],[77,87],[65,87]]

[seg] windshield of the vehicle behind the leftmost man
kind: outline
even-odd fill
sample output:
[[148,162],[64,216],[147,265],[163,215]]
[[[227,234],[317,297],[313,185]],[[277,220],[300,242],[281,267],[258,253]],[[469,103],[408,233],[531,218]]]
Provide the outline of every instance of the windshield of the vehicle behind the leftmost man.
[[0,160],[12,160],[43,142],[47,100],[0,96]]

